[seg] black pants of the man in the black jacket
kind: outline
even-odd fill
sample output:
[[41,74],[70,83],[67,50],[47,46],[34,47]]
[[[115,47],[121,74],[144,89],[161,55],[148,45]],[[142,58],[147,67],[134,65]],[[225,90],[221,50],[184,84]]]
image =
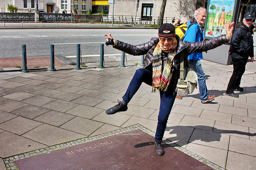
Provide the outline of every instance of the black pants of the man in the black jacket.
[[247,63],[248,59],[237,59],[232,57],[233,61],[233,74],[230,77],[229,83],[228,83],[228,88],[227,88],[227,93],[233,92],[236,88],[240,86],[241,83],[241,78],[242,75],[244,74],[245,71],[245,65]]

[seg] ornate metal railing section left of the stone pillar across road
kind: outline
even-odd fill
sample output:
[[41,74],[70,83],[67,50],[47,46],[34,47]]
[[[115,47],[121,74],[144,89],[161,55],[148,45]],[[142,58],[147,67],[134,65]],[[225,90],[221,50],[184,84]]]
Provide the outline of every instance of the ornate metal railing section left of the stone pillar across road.
[[35,21],[34,13],[17,13],[17,12],[8,12],[0,13],[1,22],[23,22],[23,21]]

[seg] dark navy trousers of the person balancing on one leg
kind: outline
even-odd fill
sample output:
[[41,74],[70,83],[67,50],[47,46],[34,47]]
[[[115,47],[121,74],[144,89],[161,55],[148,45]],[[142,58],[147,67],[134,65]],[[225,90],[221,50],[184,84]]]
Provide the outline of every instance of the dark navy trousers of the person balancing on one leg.
[[[136,70],[124,96],[122,97],[125,102],[130,102],[134,94],[140,88],[142,82],[152,86],[152,71],[145,68]],[[171,113],[172,106],[176,95],[173,94],[173,89],[169,88],[168,91],[160,92],[160,109],[158,114],[158,123],[156,127],[155,141],[162,141],[164,137],[164,131],[166,129],[168,117]]]

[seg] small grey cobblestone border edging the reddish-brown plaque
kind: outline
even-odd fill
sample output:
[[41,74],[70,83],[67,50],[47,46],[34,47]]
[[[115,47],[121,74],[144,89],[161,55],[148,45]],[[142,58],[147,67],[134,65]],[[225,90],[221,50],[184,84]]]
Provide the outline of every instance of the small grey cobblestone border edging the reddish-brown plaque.
[[[102,138],[122,134],[122,133],[125,133],[125,132],[134,131],[134,130],[137,130],[137,129],[142,130],[145,133],[147,133],[148,135],[151,135],[153,137],[155,136],[155,133],[153,131],[147,129],[146,127],[144,127],[140,124],[136,124],[136,125],[132,125],[132,126],[129,126],[129,127],[122,128],[122,129],[118,129],[116,131],[111,131],[111,132],[108,132],[108,133],[102,133],[100,135],[96,135],[96,136],[93,136],[93,137],[85,137],[85,138],[77,139],[77,140],[74,140],[74,141],[62,143],[62,144],[59,144],[59,145],[53,145],[53,146],[50,146],[50,147],[45,147],[45,148],[42,148],[42,149],[33,150],[33,151],[26,152],[26,153],[23,153],[23,154],[18,154],[18,155],[6,157],[6,158],[3,158],[3,161],[4,161],[4,164],[5,164],[7,170],[18,170],[18,167],[14,163],[14,161],[16,161],[16,160],[21,160],[21,159],[28,158],[28,157],[31,157],[31,156],[36,156],[36,155],[39,155],[39,154],[52,152],[54,150],[59,150],[59,149],[67,148],[67,147],[72,147],[74,145],[80,145],[82,143],[95,141],[95,140],[98,140],[98,139],[102,139]],[[172,146],[172,147],[174,147],[175,149],[178,149],[181,152],[195,158],[196,160],[199,160],[200,162],[206,164],[207,166],[210,166],[211,168],[213,168],[215,170],[225,170],[224,168],[214,164],[213,162],[210,162],[209,160],[206,160],[206,159],[202,158],[201,156],[180,147],[179,145],[177,145],[176,143],[173,143],[172,141],[170,141],[168,139],[164,139],[163,142]],[[202,167],[201,169],[204,169],[204,167]]]

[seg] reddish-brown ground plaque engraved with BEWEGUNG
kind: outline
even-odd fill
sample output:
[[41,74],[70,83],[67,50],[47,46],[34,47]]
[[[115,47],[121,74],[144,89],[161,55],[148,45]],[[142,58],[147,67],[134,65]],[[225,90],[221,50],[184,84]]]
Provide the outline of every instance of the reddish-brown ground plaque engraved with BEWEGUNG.
[[191,156],[163,144],[158,156],[154,137],[134,130],[104,139],[15,161],[19,170],[212,170]]

